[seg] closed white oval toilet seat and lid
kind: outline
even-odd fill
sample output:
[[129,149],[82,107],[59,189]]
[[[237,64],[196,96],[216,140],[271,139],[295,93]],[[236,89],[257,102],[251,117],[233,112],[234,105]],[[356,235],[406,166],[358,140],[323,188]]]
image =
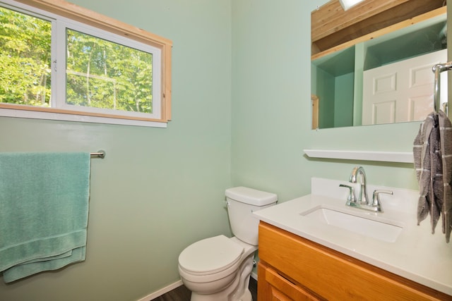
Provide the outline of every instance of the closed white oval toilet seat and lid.
[[193,276],[218,274],[237,264],[243,252],[242,245],[218,235],[186,247],[179,255],[179,268]]

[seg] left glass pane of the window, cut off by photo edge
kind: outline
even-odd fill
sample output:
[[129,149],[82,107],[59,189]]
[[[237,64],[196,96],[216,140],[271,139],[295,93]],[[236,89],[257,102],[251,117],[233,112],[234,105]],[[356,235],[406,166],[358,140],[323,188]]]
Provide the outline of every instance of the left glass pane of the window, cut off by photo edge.
[[52,23],[0,8],[0,102],[50,106]]

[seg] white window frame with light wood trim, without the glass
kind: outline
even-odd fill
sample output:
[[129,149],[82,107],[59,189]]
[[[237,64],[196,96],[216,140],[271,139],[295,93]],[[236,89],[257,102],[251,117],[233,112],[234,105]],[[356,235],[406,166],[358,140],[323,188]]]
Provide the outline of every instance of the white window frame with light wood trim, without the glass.
[[[0,4],[52,22],[53,64],[52,108],[0,103],[0,116],[166,128],[171,119],[171,41],[65,1],[1,0]],[[66,28],[153,54],[154,113],[66,104]]]

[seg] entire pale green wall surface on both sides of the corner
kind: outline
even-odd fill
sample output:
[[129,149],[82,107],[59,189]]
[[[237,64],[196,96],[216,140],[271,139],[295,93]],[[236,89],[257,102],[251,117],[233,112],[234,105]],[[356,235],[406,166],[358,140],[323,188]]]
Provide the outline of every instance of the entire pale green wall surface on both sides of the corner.
[[177,257],[230,235],[224,190],[280,202],[311,177],[417,188],[412,164],[309,159],[303,149],[411,152],[418,123],[310,130],[310,11],[326,0],[73,0],[172,39],[167,129],[0,118],[0,152],[105,149],[93,159],[87,259],[9,285],[0,300],[135,301],[179,280]]

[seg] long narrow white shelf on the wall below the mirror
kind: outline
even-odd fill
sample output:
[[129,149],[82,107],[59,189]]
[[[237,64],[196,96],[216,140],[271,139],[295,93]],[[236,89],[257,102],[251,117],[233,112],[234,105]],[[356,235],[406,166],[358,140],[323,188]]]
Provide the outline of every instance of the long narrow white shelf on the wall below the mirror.
[[412,152],[369,152],[347,150],[304,149],[310,158],[347,159],[383,162],[413,163]]

